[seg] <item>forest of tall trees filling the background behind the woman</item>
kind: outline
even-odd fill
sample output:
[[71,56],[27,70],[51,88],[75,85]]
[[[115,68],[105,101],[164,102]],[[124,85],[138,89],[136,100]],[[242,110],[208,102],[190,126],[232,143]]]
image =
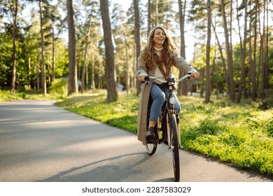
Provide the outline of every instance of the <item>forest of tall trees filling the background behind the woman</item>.
[[182,57],[193,32],[187,60],[201,76],[179,84],[179,95],[198,92],[209,103],[228,93],[239,103],[273,89],[271,0],[134,0],[128,10],[107,0],[0,0],[0,15],[1,90],[46,95],[64,83],[66,94],[107,89],[108,101],[118,99],[118,84],[139,93],[137,57],[156,25]]

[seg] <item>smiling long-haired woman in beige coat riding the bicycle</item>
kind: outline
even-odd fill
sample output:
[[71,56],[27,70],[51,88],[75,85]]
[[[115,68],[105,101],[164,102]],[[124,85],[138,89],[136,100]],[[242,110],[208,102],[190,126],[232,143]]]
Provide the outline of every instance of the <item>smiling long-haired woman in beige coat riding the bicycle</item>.
[[[137,78],[144,83],[146,76],[166,78],[172,73],[172,67],[182,71],[184,75],[188,71],[193,72],[193,78],[198,78],[198,73],[193,66],[180,57],[176,46],[163,27],[154,27],[148,37],[148,41],[141,51],[138,59]],[[155,123],[158,121],[165,97],[169,94],[166,83],[157,80],[144,85],[141,89],[139,113],[137,118],[138,139],[146,145],[146,141],[155,139]],[[174,105],[176,111],[180,111],[179,102]]]

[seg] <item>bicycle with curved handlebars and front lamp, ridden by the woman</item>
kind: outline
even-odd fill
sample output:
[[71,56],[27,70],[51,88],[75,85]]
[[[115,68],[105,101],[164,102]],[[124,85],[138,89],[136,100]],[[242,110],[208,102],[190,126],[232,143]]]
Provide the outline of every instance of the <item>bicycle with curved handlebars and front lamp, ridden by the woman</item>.
[[157,131],[155,132],[155,141],[146,144],[146,151],[149,155],[153,155],[158,148],[158,144],[165,143],[169,149],[172,149],[173,165],[174,165],[174,181],[180,181],[180,165],[179,165],[179,148],[181,148],[181,138],[179,130],[179,113],[174,109],[174,104],[178,102],[173,96],[173,87],[176,82],[181,82],[186,78],[193,78],[193,73],[188,72],[186,76],[175,80],[172,74],[166,80],[155,78],[153,76],[146,76],[144,84],[150,83],[152,80],[158,80],[161,83],[167,83],[169,86],[169,97],[167,97],[165,104],[162,107],[162,112],[158,122],[155,124]]

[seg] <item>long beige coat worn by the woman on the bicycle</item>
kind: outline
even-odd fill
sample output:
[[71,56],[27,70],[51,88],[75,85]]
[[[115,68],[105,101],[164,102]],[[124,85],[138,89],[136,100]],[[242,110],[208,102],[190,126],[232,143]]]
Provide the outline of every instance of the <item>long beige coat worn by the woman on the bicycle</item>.
[[[178,53],[174,53],[174,66],[176,66],[177,69],[181,71],[184,75],[188,73],[188,71],[191,71],[193,66],[190,66],[188,62],[186,62],[183,57],[180,57]],[[156,66],[153,66],[150,69],[147,69],[146,64],[141,57],[139,57],[138,65],[137,65],[137,78],[141,75],[145,76],[154,76],[155,75],[155,68]],[[167,69],[172,69],[172,67],[167,67]],[[171,70],[166,71],[167,73],[172,73]],[[139,102],[139,111],[138,111],[138,117],[137,117],[137,128],[138,128],[138,139],[139,141],[142,141],[144,145],[146,145],[146,132],[148,130],[148,118],[150,115],[150,107],[151,107],[151,98],[150,98],[150,92],[151,92],[152,82],[148,85],[142,85],[141,87],[141,97]]]

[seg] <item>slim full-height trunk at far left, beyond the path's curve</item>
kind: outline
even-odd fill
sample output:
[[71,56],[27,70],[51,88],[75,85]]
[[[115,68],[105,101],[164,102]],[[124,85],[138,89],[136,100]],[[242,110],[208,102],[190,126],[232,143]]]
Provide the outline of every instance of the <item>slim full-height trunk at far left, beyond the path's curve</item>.
[[42,68],[42,93],[46,95],[46,80],[45,80],[45,50],[43,43],[43,13],[42,13],[42,0],[39,0],[40,8],[40,27],[41,27],[41,68]]

